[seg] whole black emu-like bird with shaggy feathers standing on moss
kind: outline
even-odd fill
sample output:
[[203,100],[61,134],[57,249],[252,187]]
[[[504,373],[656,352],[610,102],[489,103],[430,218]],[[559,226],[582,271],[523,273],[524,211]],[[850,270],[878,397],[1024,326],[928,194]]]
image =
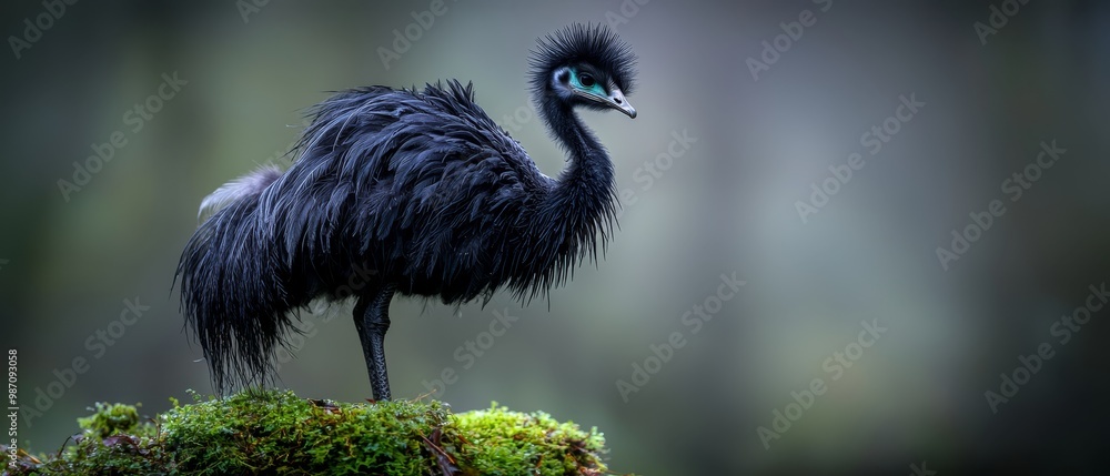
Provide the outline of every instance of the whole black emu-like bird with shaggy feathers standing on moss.
[[213,214],[178,264],[216,391],[269,382],[297,310],[354,297],[374,398],[389,399],[394,294],[460,305],[506,287],[528,301],[596,261],[616,220],[613,163],[574,110],[635,118],[625,99],[634,62],[602,26],[539,39],[532,95],[568,154],[557,179],[474,102],[471,84],[360,88],[316,105],[289,170],[263,168],[203,201]]

